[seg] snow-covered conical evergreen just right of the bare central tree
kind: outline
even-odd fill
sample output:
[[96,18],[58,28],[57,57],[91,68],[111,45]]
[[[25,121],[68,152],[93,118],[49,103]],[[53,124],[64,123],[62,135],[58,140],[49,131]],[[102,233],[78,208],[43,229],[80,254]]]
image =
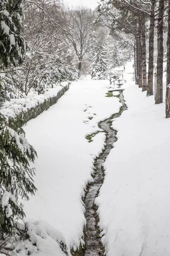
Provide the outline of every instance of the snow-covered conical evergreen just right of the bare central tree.
[[103,47],[101,44],[99,45],[98,49],[96,49],[96,55],[94,56],[91,64],[91,79],[105,79],[105,72],[107,70],[105,51],[105,47]]

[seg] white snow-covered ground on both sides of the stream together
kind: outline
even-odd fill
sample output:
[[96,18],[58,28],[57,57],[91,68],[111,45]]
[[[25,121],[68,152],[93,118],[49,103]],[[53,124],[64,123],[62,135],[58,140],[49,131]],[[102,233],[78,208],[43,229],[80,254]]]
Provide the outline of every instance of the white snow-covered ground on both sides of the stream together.
[[[170,119],[165,119],[164,103],[155,105],[154,96],[146,97],[134,84],[128,74],[132,65],[123,73],[128,109],[112,123],[118,140],[105,161],[104,183],[95,200],[101,241],[106,256],[169,256]],[[97,123],[119,111],[119,99],[105,97],[109,88],[109,81],[84,77],[23,127],[38,154],[31,166],[37,170],[38,191],[24,202],[30,241],[17,241],[22,248],[18,256],[28,249],[32,256],[63,256],[60,241],[67,244],[68,254],[84,244],[82,197],[93,181],[93,163],[104,148],[105,133],[96,134],[91,143],[85,137],[102,131]],[[164,81],[164,99],[165,89]],[[4,202],[7,206],[8,200]]]

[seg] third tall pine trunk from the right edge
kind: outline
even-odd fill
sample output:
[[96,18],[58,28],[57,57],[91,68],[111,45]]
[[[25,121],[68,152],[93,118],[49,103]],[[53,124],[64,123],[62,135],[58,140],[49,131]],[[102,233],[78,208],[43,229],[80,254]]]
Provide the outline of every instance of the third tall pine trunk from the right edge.
[[150,10],[150,32],[149,32],[149,60],[148,60],[148,76],[147,76],[147,96],[153,95],[153,48],[154,48],[155,1],[156,0],[151,0],[151,10]]

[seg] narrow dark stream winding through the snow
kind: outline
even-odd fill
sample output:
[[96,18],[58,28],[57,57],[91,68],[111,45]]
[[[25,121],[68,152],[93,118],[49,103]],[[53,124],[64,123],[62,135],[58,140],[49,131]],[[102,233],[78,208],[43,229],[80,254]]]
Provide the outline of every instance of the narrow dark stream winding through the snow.
[[85,256],[99,256],[103,255],[104,248],[102,248],[102,244],[100,242],[99,230],[97,227],[98,216],[96,214],[97,207],[94,204],[95,198],[99,193],[99,189],[102,186],[104,180],[104,169],[103,163],[106,160],[111,148],[113,148],[113,143],[116,142],[116,131],[111,128],[111,120],[121,116],[122,112],[127,110],[127,106],[125,105],[125,101],[123,98],[122,92],[119,95],[120,102],[122,103],[122,107],[120,108],[119,113],[114,114],[108,119],[105,119],[99,122],[99,127],[105,131],[106,134],[106,146],[99,157],[96,158],[94,166],[94,183],[89,186],[88,192],[85,197],[85,218],[87,221],[86,224],[86,250]]

